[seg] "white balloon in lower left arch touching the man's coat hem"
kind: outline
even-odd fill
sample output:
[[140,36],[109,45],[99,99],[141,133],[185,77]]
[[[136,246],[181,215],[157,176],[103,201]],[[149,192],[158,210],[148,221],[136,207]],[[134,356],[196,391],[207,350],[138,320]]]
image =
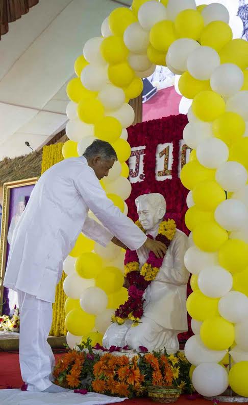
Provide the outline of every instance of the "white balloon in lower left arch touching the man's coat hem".
[[78,273],[72,273],[67,276],[63,283],[65,295],[73,300],[79,300],[82,292],[88,288],[93,287],[95,281],[93,279],[83,279]]

